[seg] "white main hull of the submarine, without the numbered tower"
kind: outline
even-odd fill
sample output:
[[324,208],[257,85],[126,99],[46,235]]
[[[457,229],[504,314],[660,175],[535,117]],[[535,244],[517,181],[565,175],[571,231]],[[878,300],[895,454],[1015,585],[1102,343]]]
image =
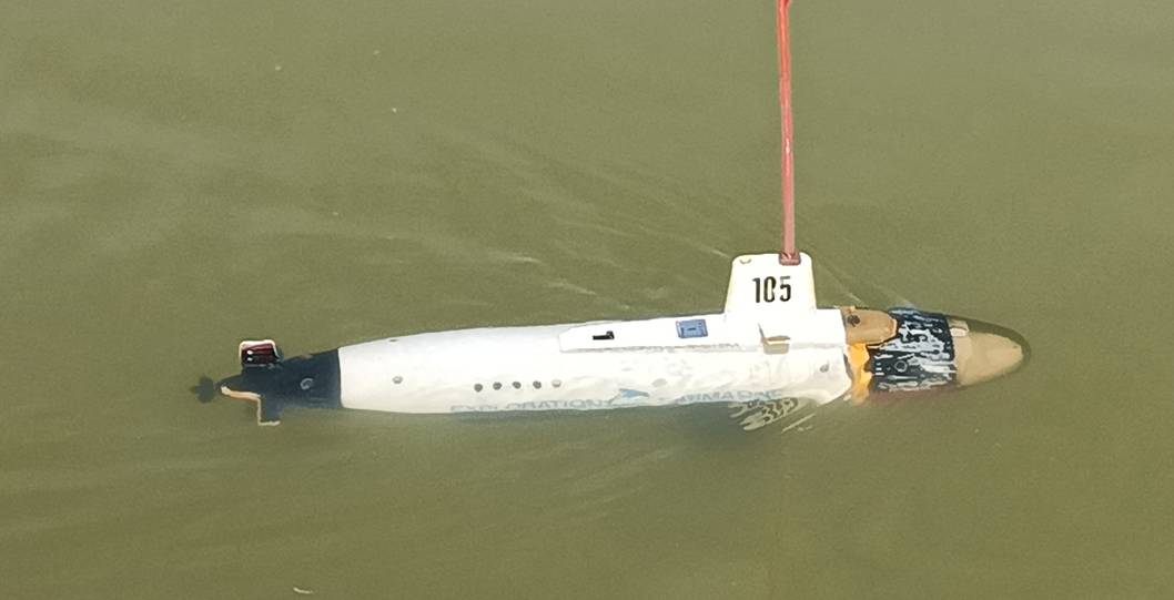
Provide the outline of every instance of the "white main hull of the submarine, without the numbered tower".
[[[338,350],[343,407],[410,413],[607,410],[701,402],[831,402],[851,386],[838,310],[815,344],[768,353],[728,315],[471,329]],[[704,337],[681,337],[704,330]],[[837,343],[837,339],[839,343]]]

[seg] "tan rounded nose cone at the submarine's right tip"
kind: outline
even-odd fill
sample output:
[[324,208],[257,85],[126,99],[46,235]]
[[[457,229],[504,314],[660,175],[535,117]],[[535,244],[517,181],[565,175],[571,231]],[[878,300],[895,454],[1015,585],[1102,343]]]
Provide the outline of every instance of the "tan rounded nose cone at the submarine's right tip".
[[958,384],[974,385],[1007,375],[1027,362],[1023,336],[1005,328],[972,319],[950,319]]

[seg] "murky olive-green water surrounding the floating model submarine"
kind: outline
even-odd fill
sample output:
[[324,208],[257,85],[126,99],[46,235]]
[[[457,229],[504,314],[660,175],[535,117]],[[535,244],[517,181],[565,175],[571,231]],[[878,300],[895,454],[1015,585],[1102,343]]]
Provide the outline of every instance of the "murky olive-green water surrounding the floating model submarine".
[[822,302],[1030,368],[720,409],[197,404],[237,341],[716,310],[777,248],[772,2],[0,5],[0,595],[1168,598],[1174,7],[794,8]]

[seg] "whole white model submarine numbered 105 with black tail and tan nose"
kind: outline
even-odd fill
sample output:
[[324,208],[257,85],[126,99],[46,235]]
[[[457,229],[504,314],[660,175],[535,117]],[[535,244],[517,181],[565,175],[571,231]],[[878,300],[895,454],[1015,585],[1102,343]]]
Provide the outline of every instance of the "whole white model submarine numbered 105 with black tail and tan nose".
[[[588,411],[728,403],[743,429],[837,399],[918,396],[1018,369],[1027,344],[979,321],[910,308],[817,308],[811,257],[738,256],[720,314],[467,329],[376,339],[284,358],[239,345],[221,393],[286,407],[400,413]],[[796,420],[802,417],[801,420]]]

